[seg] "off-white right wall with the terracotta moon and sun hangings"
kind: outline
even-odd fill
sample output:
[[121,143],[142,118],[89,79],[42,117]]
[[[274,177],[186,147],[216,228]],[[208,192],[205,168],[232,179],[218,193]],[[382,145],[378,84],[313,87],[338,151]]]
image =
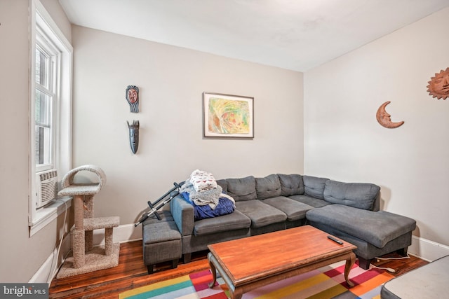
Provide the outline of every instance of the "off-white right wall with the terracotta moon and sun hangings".
[[[449,100],[427,92],[449,67],[449,8],[304,74],[304,173],[381,186],[382,209],[449,245]],[[391,101],[396,129],[380,126]]]

